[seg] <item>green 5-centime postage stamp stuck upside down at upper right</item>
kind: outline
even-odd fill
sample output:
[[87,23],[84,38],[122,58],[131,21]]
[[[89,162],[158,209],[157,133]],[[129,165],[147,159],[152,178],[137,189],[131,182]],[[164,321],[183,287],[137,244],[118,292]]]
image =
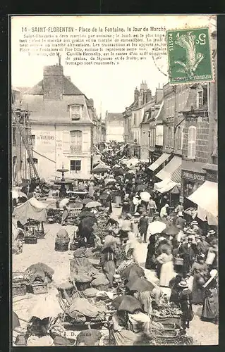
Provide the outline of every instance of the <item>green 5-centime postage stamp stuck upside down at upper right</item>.
[[168,30],[166,42],[170,83],[213,80],[208,28]]

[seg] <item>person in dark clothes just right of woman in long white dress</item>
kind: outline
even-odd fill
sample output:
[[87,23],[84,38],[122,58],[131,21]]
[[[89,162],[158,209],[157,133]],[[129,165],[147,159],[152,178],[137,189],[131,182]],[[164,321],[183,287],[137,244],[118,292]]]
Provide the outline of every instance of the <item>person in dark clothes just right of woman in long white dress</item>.
[[190,268],[195,261],[196,248],[193,244],[193,237],[188,237],[188,243],[181,245],[178,254],[183,258],[183,277],[187,277]]

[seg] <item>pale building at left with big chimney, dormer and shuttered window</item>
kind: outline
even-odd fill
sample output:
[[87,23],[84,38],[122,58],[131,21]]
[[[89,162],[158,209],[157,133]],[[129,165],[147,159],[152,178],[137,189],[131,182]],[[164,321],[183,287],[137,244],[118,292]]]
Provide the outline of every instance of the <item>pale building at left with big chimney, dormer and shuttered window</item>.
[[60,61],[44,67],[42,80],[23,93],[23,104],[32,111],[32,141],[40,177],[52,177],[62,165],[78,178],[89,177],[95,108],[92,99],[63,75]]

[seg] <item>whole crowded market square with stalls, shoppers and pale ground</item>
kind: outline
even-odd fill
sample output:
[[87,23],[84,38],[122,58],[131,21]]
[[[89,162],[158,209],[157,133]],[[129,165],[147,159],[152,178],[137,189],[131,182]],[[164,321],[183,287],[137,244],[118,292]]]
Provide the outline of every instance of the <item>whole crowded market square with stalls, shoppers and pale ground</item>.
[[[181,205],[169,206],[168,198],[154,191],[146,163],[126,159],[121,146],[113,147],[118,151],[110,165],[105,151],[90,181],[71,182],[73,191],[66,191],[62,178],[59,193],[49,184],[45,197],[37,186],[14,208],[13,314],[20,321],[15,344],[20,336],[27,336],[27,346],[218,344],[218,297],[211,306],[205,301],[207,285],[218,280],[217,254],[212,255],[216,231],[208,228],[205,237],[196,220],[184,220]],[[156,196],[164,201],[161,206]],[[180,248],[191,249],[191,255]],[[183,306],[183,292],[190,295],[189,306]],[[72,312],[78,302],[88,310],[76,306]],[[130,325],[118,329],[114,317],[124,311]],[[96,315],[99,320],[91,318]],[[45,332],[39,331],[39,319],[47,324]],[[84,327],[90,341],[83,340]]]

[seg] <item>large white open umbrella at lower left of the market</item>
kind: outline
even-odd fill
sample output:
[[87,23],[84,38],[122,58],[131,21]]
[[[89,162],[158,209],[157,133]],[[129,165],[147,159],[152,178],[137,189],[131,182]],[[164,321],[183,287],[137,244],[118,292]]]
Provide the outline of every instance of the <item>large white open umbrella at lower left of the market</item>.
[[48,294],[40,297],[37,303],[30,307],[29,313],[31,317],[43,320],[44,318],[56,318],[57,315],[63,313],[63,310],[59,306],[56,296]]

